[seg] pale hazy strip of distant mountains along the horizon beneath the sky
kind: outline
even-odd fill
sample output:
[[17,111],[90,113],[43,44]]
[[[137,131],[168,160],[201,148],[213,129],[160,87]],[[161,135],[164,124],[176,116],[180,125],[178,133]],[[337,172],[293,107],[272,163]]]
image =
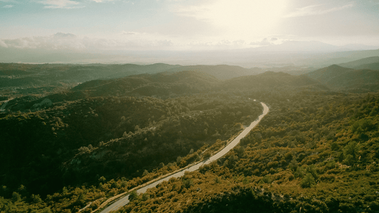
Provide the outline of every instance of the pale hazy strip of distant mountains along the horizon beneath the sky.
[[134,63],[164,62],[180,65],[238,65],[242,67],[327,66],[360,58],[379,56],[379,47],[369,45],[330,45],[319,41],[288,40],[279,45],[234,50],[131,51],[107,50],[97,53],[77,50],[4,48],[0,62],[29,63]]

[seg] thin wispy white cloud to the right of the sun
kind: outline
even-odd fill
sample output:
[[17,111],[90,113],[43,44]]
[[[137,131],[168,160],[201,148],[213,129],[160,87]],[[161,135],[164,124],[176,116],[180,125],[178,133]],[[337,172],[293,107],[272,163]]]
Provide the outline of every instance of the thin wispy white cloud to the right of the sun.
[[289,13],[284,18],[292,18],[292,17],[299,17],[299,16],[314,16],[314,15],[322,15],[325,13],[331,13],[334,11],[341,11],[344,9],[348,9],[354,6],[353,3],[346,4],[344,6],[338,6],[333,7],[330,9],[322,8],[324,5],[311,5],[311,6],[305,6],[301,9],[297,9],[297,11],[294,11],[293,13]]

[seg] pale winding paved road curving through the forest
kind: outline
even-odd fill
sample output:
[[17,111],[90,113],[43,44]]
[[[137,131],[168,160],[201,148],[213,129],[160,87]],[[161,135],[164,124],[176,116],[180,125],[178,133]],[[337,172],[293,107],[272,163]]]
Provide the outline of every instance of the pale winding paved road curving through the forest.
[[[200,168],[202,165],[209,164],[209,163],[213,162],[214,160],[218,160],[218,158],[223,157],[223,155],[228,153],[228,151],[230,151],[232,148],[237,146],[237,144],[240,143],[240,140],[242,138],[244,138],[245,136],[247,136],[247,133],[249,133],[255,126],[257,126],[257,124],[260,122],[260,120],[262,120],[262,118],[269,112],[269,108],[267,107],[267,105],[262,103],[262,102],[261,102],[261,104],[263,107],[263,113],[255,121],[253,121],[250,124],[250,126],[248,126],[246,129],[244,129],[242,131],[242,133],[240,133],[240,135],[237,136],[237,138],[234,138],[234,140],[232,142],[230,142],[228,144],[228,146],[225,146],[225,148],[223,148],[223,150],[216,153],[212,157],[208,158],[208,160],[204,160],[200,163],[197,163],[197,164],[191,166],[190,168],[186,168],[185,170],[181,170],[178,173],[174,173],[172,175],[169,175],[166,178],[162,178],[161,180],[157,180],[156,182],[152,182],[151,184],[146,185],[146,186],[140,188],[139,190],[137,190],[137,193],[144,193],[144,192],[146,192],[147,189],[152,188],[152,187],[156,187],[156,185],[159,185],[159,183],[161,183],[161,182],[168,181],[170,178],[179,178],[179,177],[183,176],[185,172],[193,172],[195,170],[198,170],[198,168]],[[122,197],[121,199],[112,203],[109,207],[105,208],[100,213],[108,213],[108,212],[116,211],[117,209],[126,205],[128,202],[129,202],[129,195]]]

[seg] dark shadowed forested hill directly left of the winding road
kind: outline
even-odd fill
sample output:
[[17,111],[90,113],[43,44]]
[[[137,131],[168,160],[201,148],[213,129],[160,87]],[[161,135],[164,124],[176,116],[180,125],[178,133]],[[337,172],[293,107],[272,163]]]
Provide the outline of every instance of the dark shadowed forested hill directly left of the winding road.
[[0,119],[1,182],[44,195],[96,175],[132,178],[229,138],[261,111],[247,98],[215,94],[166,101],[97,97],[9,114]]

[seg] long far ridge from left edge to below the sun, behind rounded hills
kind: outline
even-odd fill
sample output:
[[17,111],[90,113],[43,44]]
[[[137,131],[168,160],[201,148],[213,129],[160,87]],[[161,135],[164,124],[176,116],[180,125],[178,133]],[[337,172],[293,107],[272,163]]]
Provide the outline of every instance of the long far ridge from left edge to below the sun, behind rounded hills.
[[229,65],[181,66],[157,63],[152,65],[73,65],[0,63],[1,87],[41,87],[43,85],[78,84],[97,79],[116,79],[129,75],[158,72],[195,71],[226,80],[243,75],[255,75],[257,69]]

